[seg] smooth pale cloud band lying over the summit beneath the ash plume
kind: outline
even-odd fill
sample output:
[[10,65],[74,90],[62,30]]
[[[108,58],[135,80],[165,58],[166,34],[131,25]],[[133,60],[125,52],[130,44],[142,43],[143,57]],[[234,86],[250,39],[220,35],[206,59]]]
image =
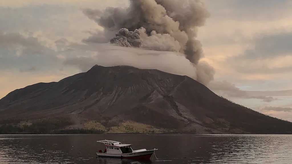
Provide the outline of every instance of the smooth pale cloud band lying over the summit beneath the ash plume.
[[65,66],[87,71],[94,64],[102,66],[129,65],[140,69],[158,69],[197,79],[196,67],[181,53],[125,48],[109,44],[72,44],[72,51],[87,50],[82,56],[68,57]]

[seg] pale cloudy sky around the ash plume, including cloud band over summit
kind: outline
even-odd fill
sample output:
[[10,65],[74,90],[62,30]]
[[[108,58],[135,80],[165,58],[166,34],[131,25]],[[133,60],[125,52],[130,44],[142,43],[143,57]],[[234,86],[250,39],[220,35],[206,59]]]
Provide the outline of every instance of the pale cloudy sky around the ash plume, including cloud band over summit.
[[[264,2],[204,1],[209,17],[197,29],[196,39],[204,51],[201,61],[215,70],[206,86],[235,103],[292,121],[292,1]],[[128,0],[0,2],[0,98],[94,64],[129,64],[192,76],[185,59],[171,52],[85,43],[103,30],[85,9],[128,6]],[[158,57],[141,58],[144,53]]]

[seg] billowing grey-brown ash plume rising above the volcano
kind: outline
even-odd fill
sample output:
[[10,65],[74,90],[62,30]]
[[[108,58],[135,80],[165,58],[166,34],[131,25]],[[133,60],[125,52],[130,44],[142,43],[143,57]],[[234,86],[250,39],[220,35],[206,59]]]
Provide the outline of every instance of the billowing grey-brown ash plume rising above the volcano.
[[[85,9],[84,13],[102,26],[105,34],[117,32],[108,38],[110,43],[183,53],[196,70],[193,77],[204,84],[213,80],[214,69],[199,63],[203,50],[195,39],[197,27],[209,16],[200,0],[130,0],[128,8]],[[95,42],[93,38],[91,42]]]

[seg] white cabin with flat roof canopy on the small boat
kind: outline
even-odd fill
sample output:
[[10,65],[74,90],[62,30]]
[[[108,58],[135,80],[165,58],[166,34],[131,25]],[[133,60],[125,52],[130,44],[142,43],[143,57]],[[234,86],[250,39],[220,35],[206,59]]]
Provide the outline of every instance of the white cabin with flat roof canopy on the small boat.
[[121,142],[111,140],[102,140],[97,142],[105,144],[105,150],[99,150],[98,153],[124,154],[133,152],[133,149],[131,148],[132,144],[122,144]]

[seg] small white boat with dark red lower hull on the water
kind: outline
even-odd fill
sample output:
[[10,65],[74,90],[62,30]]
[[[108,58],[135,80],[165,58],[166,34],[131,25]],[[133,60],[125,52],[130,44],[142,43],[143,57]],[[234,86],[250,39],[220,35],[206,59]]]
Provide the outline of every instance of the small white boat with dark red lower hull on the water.
[[97,141],[100,143],[105,144],[105,150],[99,150],[96,155],[98,157],[105,157],[105,158],[121,158],[121,159],[134,159],[134,160],[154,160],[155,150],[146,150],[146,149],[139,149],[133,150],[132,144],[122,144],[118,141],[111,141],[111,140],[101,140]]

